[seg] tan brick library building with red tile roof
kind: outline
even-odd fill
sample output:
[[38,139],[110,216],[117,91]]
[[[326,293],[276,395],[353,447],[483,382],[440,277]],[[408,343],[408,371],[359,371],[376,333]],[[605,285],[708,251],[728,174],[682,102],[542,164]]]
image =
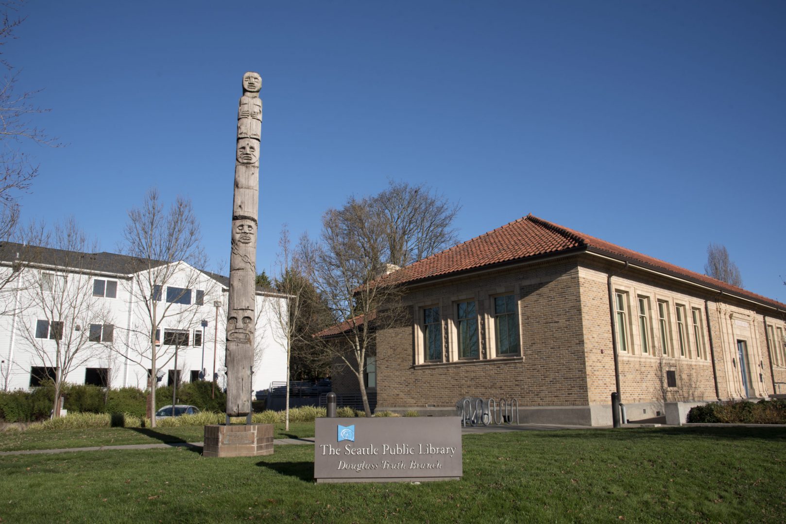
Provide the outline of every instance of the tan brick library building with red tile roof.
[[616,391],[630,422],[681,423],[786,391],[786,304],[532,215],[383,278],[411,314],[376,333],[377,412],[516,399],[521,423],[604,426]]

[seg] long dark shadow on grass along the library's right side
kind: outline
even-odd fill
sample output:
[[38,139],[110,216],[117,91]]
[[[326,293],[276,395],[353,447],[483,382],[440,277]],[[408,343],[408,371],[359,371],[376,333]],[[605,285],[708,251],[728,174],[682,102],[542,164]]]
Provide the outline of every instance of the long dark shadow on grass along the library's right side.
[[636,438],[714,438],[739,440],[740,438],[757,438],[763,440],[786,441],[786,427],[622,427],[604,430],[564,430],[538,431],[531,434],[538,438],[597,438],[603,440],[630,441]]

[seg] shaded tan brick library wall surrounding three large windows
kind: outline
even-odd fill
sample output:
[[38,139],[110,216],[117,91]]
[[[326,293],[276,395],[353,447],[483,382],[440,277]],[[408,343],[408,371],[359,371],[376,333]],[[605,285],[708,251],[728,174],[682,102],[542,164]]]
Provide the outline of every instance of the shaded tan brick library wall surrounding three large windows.
[[[462,397],[517,398],[525,405],[586,405],[581,305],[575,264],[530,267],[483,278],[421,288],[407,296],[413,318],[419,304],[439,303],[448,361],[415,365],[413,322],[377,335],[378,404],[384,407],[450,407]],[[494,294],[514,292],[522,354],[492,358],[489,335]],[[461,361],[455,343],[454,303],[475,299],[485,357]],[[447,329],[445,329],[445,326]],[[485,326],[485,328],[484,328]]]

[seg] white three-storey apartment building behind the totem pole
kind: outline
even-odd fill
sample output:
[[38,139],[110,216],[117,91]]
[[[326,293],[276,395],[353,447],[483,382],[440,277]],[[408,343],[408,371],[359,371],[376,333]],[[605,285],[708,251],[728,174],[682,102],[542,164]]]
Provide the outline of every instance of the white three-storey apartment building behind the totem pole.
[[[185,262],[2,243],[0,387],[35,387],[59,369],[66,383],[144,389],[153,327],[160,385],[176,373],[209,381],[215,370],[224,387],[228,284]],[[261,393],[286,379],[286,300],[257,289],[256,307],[252,384]]]

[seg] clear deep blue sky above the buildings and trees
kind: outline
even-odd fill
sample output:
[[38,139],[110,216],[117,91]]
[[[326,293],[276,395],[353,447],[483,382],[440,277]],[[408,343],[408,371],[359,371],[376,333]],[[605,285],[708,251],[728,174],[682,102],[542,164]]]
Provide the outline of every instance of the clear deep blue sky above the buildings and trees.
[[4,57],[68,147],[32,148],[24,218],[106,251],[156,185],[230,255],[237,99],[263,77],[258,269],[281,225],[387,178],[532,212],[703,272],[725,244],[786,302],[786,2],[42,2]]

